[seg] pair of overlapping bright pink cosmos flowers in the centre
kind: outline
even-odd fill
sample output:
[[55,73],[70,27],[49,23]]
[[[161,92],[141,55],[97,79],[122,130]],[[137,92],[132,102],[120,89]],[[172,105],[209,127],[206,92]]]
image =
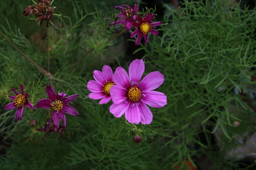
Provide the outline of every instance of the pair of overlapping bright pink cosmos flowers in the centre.
[[142,59],[131,62],[129,76],[121,66],[116,68],[113,74],[110,66],[105,65],[102,72],[93,72],[95,81],[90,80],[87,85],[88,90],[92,92],[89,97],[94,100],[101,99],[100,105],[112,99],[113,104],[109,111],[115,117],[125,114],[127,121],[132,124],[150,124],[153,115],[147,105],[162,108],[167,105],[167,96],[153,91],[163,84],[163,74],[154,71],[140,81],[144,71],[145,64]]

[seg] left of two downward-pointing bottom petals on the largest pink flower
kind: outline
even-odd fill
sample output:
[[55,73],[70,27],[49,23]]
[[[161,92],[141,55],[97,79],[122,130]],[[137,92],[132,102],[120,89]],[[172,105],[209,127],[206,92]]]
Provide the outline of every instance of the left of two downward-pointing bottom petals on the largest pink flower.
[[131,102],[127,111],[125,111],[125,118],[129,123],[136,125],[140,123],[140,110],[136,102]]

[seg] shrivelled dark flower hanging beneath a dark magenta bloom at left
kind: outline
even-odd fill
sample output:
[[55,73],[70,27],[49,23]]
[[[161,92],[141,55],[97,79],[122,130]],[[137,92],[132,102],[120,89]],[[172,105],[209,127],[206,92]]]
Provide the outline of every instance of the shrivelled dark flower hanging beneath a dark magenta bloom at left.
[[46,134],[44,134],[43,136],[43,143],[44,143],[44,139],[47,135],[50,135],[50,133],[55,132],[55,133],[61,133],[61,138],[63,138],[63,131],[65,131],[65,127],[59,125],[59,127],[57,127],[56,125],[54,125],[53,123],[53,119],[51,117],[47,118],[44,127],[40,127],[38,129],[39,132],[46,132]]

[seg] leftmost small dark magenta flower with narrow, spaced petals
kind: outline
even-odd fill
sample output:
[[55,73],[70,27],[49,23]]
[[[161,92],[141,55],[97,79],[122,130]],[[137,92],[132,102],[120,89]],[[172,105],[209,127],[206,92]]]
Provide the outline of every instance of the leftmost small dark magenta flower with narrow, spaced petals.
[[16,96],[8,96],[8,97],[10,99],[14,100],[14,102],[9,103],[4,108],[5,108],[6,111],[10,110],[10,109],[17,108],[15,119],[14,119],[14,121],[16,122],[18,120],[18,118],[20,120],[22,120],[22,113],[23,113],[23,109],[24,109],[25,106],[32,109],[32,110],[34,110],[35,108],[28,101],[29,94],[24,93],[23,85],[20,85],[21,94],[19,94],[14,88],[12,88],[12,91],[16,94]]

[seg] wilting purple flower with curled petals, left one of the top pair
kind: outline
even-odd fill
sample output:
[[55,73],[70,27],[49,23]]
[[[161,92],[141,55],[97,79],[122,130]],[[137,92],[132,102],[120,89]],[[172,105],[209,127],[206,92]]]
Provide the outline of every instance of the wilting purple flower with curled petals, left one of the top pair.
[[[123,8],[123,7],[127,7],[128,9]],[[125,25],[124,28],[129,31],[132,27],[132,23],[134,21],[136,21],[137,12],[139,10],[139,7],[137,6],[137,4],[134,4],[133,9],[128,5],[114,6],[113,8],[119,8],[120,11],[121,11],[121,14],[118,14],[116,19],[115,19],[115,22],[111,23],[109,25],[111,26],[111,25],[122,25],[122,24],[124,24]],[[122,18],[122,19],[118,20],[119,18]]]

